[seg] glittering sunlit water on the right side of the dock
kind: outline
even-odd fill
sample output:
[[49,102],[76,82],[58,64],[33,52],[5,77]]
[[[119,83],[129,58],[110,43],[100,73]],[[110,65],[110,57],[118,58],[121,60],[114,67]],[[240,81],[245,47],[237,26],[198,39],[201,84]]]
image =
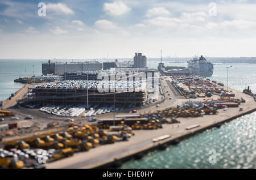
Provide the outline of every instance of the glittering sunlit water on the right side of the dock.
[[[166,63],[165,63],[166,64]],[[154,67],[155,63],[150,63]],[[167,66],[179,65],[168,63]],[[183,66],[186,66],[184,63]],[[227,84],[228,65],[214,65],[210,79]],[[230,65],[229,65],[230,66]],[[256,92],[256,65],[232,64],[229,87],[242,91],[245,83]],[[130,160],[121,168],[256,168],[256,112],[212,128],[169,146],[165,151],[147,153],[141,160]],[[217,152],[216,164],[208,161],[209,150]]]

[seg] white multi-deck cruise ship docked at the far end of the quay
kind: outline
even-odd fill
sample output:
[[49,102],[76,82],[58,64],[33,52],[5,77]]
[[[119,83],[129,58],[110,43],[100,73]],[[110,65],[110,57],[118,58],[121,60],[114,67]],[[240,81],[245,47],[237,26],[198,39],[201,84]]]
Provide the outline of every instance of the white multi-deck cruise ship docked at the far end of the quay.
[[189,74],[195,74],[200,76],[212,76],[213,64],[207,61],[203,55],[198,59],[197,57],[188,61]]

